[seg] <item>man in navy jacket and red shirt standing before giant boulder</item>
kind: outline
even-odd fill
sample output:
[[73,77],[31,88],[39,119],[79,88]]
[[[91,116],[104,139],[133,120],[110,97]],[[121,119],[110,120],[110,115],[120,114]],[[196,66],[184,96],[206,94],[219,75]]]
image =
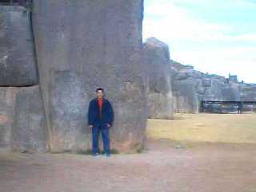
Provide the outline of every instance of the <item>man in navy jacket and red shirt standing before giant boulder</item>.
[[114,112],[109,100],[103,96],[103,88],[96,89],[97,98],[90,100],[88,112],[88,124],[92,131],[92,152],[99,154],[98,136],[102,133],[104,154],[110,156],[110,135],[109,129],[113,125]]

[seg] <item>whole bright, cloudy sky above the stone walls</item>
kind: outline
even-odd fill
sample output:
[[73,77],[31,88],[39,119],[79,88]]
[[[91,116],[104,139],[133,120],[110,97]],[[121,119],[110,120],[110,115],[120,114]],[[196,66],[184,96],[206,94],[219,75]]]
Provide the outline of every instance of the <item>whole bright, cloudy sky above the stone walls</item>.
[[202,72],[256,83],[256,0],[144,0],[143,38]]

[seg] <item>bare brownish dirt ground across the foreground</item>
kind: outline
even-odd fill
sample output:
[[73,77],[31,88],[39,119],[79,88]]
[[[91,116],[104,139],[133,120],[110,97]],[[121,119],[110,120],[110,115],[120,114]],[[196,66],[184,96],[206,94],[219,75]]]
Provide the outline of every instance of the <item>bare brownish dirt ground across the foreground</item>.
[[[163,122],[163,126],[166,122]],[[146,140],[141,154],[0,154],[0,192],[255,192],[256,144]]]

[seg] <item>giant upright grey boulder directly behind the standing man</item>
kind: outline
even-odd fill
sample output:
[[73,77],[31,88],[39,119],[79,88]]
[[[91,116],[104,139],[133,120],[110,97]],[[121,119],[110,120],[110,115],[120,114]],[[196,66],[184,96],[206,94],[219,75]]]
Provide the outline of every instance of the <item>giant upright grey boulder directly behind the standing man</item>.
[[51,151],[90,149],[95,88],[114,106],[112,148],[136,151],[146,127],[142,0],[34,0],[33,26]]

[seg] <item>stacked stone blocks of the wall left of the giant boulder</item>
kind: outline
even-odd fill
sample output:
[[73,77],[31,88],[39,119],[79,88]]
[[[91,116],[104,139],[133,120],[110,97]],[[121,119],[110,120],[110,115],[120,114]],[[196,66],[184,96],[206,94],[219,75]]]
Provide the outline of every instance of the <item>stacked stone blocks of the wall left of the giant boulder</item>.
[[30,13],[0,6],[0,151],[46,152],[48,139]]

